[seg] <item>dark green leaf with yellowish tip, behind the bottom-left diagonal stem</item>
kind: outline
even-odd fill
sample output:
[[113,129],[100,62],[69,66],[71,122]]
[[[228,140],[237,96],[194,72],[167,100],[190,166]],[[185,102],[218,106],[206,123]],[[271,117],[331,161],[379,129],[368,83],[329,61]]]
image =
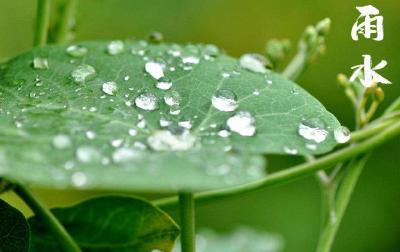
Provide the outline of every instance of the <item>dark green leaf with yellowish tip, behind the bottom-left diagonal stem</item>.
[[[131,197],[93,198],[51,210],[84,252],[170,251],[179,228],[164,212]],[[40,219],[29,219],[31,252],[62,251]]]

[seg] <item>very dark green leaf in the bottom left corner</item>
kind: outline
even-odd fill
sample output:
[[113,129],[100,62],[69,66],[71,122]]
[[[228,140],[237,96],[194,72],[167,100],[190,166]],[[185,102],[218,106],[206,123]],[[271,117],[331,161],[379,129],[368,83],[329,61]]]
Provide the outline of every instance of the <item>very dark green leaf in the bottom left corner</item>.
[[0,199],[0,251],[29,251],[29,225],[17,209]]

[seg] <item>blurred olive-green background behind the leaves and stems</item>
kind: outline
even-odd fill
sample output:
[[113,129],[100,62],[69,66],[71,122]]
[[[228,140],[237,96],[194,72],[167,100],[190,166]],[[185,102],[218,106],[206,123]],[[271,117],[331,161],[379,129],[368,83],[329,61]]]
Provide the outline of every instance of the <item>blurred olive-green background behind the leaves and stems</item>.
[[[0,59],[13,57],[32,45],[33,0],[0,0]],[[350,30],[358,17],[355,6],[372,4],[384,16],[385,39],[381,42],[352,41]],[[400,94],[400,1],[350,0],[81,0],[77,13],[76,40],[144,38],[160,31],[170,42],[209,42],[239,56],[264,51],[271,38],[297,39],[308,24],[324,17],[333,21],[328,50],[298,81],[320,99],[350,128],[353,111],[336,84],[339,72],[371,54],[374,64],[394,84],[385,86],[385,105]],[[399,141],[374,152],[357,185],[340,227],[333,251],[400,251]],[[293,158],[270,158],[270,168],[281,169],[299,162]],[[33,171],[34,172],[34,171]],[[47,204],[68,204],[87,197],[84,192],[35,191]],[[4,195],[29,212],[11,194]],[[172,213],[176,215],[176,213]],[[281,234],[285,251],[313,251],[320,225],[320,194],[314,178],[268,188],[198,207],[199,226],[229,230],[248,225]]]

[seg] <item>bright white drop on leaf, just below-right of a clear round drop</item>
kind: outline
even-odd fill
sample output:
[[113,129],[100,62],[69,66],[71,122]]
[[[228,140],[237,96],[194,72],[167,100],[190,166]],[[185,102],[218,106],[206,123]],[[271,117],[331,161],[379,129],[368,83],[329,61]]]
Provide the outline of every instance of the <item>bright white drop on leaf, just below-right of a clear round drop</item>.
[[247,111],[239,111],[231,116],[226,124],[230,131],[242,136],[253,136],[256,133],[255,118]]

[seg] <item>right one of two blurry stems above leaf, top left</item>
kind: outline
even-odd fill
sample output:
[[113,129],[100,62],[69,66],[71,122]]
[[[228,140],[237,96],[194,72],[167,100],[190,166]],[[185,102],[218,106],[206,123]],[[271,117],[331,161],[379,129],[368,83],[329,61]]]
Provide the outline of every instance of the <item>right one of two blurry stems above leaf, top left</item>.
[[61,18],[58,21],[54,36],[55,43],[68,42],[77,4],[78,0],[66,0],[61,6]]

